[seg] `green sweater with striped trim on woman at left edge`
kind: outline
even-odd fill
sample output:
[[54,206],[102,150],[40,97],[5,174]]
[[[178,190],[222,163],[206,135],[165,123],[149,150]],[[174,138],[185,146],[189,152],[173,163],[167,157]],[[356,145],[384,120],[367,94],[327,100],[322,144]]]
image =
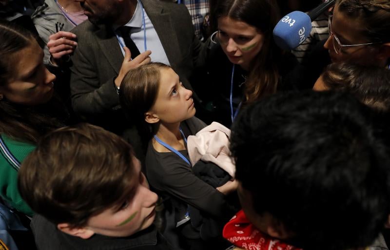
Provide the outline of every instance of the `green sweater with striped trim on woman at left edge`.
[[[8,148],[8,151],[10,151],[19,162],[22,162],[36,147],[35,145],[13,140],[6,135],[1,135],[1,137],[5,146]],[[11,164],[2,150],[0,150],[0,152],[0,196],[19,212],[32,217],[34,212],[21,198],[18,190],[18,169],[14,164]]]

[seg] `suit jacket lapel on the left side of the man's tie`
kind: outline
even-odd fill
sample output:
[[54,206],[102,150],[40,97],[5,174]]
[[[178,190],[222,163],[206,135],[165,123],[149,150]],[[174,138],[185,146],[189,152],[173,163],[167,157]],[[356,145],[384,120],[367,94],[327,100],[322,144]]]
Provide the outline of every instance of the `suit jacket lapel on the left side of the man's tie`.
[[110,26],[98,25],[96,36],[98,37],[97,42],[104,56],[114,68],[115,72],[119,74],[120,67],[122,66],[123,54],[120,50],[120,45],[114,31],[112,31]]

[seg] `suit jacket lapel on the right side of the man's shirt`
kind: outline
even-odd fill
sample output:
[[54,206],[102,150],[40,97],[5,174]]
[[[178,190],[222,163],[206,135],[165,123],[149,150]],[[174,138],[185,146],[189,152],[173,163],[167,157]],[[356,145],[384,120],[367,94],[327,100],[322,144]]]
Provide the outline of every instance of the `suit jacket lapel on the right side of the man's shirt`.
[[[143,7],[148,14],[149,19],[152,21],[153,26],[160,38],[162,47],[169,60],[171,66],[179,62],[179,59],[183,57],[180,55],[179,42],[177,39],[176,30],[174,29],[170,13],[168,9],[164,9],[163,6],[156,0],[141,0]],[[152,51],[153,53],[153,51]]]

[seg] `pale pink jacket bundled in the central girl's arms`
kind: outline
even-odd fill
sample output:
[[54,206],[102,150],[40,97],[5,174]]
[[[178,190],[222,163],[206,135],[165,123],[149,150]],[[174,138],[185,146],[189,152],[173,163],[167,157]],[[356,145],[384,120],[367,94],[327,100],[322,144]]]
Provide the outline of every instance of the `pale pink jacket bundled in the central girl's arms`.
[[188,136],[187,150],[191,164],[194,166],[199,160],[213,162],[234,177],[235,164],[229,150],[230,133],[230,129],[213,122],[196,135]]

